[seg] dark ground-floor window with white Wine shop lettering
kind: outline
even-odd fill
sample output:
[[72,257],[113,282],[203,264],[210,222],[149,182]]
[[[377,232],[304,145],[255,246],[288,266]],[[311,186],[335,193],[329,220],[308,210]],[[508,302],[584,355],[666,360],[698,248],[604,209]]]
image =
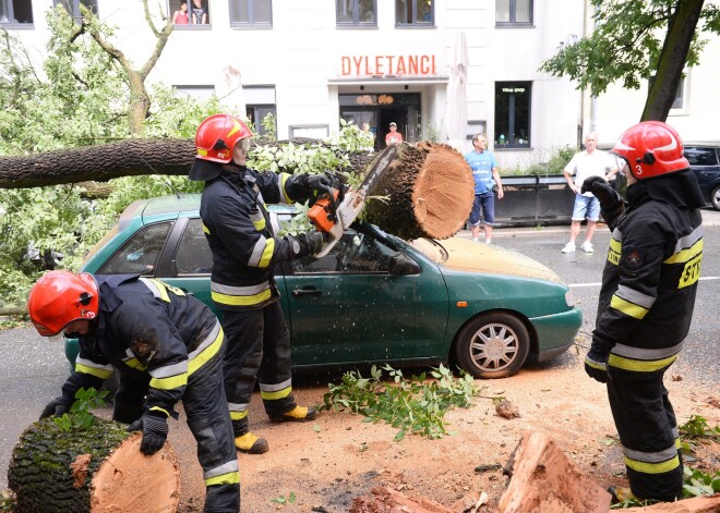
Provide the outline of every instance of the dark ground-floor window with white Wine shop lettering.
[[495,148],[530,147],[531,82],[495,83]]

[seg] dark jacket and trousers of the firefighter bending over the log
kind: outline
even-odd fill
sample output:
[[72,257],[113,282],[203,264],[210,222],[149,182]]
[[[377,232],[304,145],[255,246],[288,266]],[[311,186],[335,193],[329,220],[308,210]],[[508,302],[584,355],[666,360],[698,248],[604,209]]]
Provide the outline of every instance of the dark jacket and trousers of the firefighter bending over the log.
[[140,396],[146,386],[146,411],[178,418],[173,406],[182,400],[203,467],[204,511],[240,511],[240,475],[221,378],[225,337],[217,318],[196,298],[159,280],[95,280],[99,314],[95,329],[80,337],[75,372],[63,384],[63,396],[98,389],[115,368],[123,375],[122,384],[133,383],[129,395]]

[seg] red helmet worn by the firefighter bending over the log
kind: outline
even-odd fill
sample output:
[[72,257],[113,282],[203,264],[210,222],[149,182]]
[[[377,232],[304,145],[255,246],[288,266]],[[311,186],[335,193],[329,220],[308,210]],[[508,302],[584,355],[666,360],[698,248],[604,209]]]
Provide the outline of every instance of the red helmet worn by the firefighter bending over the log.
[[97,317],[99,304],[92,274],[49,271],[33,286],[27,309],[37,332],[53,337],[73,320]]

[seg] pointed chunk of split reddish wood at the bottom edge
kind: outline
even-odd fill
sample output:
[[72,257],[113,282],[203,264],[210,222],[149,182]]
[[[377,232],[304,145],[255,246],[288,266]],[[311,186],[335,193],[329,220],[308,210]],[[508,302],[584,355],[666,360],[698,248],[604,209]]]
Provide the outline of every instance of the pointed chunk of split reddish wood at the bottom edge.
[[580,473],[548,435],[523,437],[505,472],[512,477],[500,499],[500,513],[605,513],[610,509],[610,493]]

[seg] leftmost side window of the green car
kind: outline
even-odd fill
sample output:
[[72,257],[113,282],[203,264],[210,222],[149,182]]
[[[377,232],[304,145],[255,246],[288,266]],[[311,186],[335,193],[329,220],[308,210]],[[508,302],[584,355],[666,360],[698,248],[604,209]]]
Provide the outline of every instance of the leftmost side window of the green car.
[[158,222],[143,227],[100,267],[97,273],[153,276],[172,224],[173,222]]

